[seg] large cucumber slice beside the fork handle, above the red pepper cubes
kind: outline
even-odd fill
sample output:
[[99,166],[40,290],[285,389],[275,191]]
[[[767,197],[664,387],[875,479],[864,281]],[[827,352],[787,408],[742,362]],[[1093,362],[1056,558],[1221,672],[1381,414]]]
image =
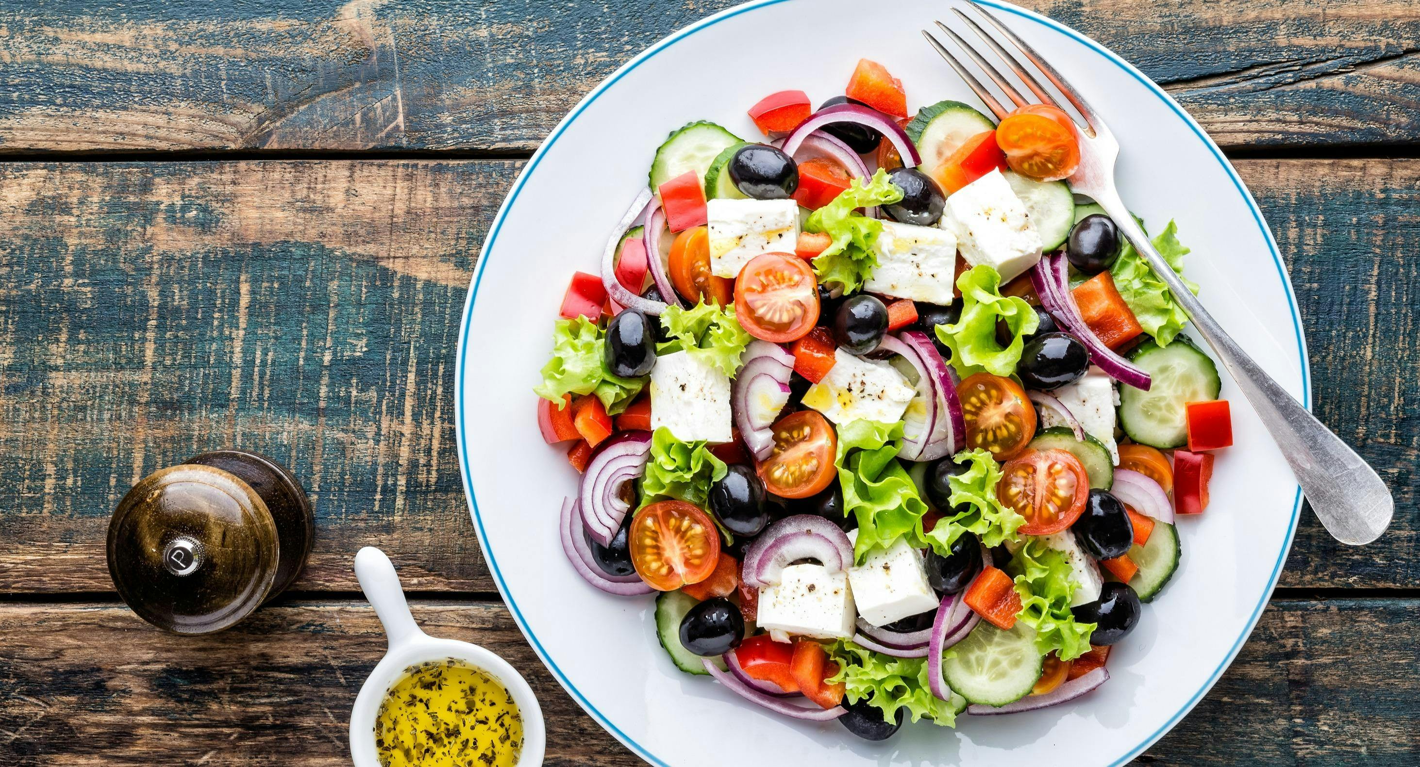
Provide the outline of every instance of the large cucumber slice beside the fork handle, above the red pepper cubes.
[[1119,387],[1119,427],[1135,442],[1159,449],[1180,448],[1189,442],[1184,404],[1217,400],[1223,381],[1218,366],[1187,336],[1169,346],[1143,343],[1129,362],[1149,373],[1149,391]]

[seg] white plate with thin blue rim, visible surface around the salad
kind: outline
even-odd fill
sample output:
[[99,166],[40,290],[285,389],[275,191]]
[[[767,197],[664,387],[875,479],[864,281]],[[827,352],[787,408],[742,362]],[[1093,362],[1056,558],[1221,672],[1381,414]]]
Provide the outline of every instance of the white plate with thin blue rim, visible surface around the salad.
[[[1098,43],[1034,13],[988,4],[1109,121],[1123,147],[1119,186],[1130,207],[1153,228],[1179,221],[1193,248],[1187,274],[1210,310],[1306,403],[1306,352],[1285,267],[1218,149],[1163,91]],[[1233,401],[1238,447],[1218,459],[1213,503],[1201,519],[1180,522],[1180,571],[1110,654],[1110,681],[1072,705],[961,716],[954,730],[909,724],[886,743],[858,740],[836,723],[780,719],[709,678],[677,672],[656,644],[652,600],[605,595],[562,557],[558,509],[577,474],[565,448],[542,442],[531,390],[572,271],[598,271],[608,230],[645,187],[666,133],[711,119],[753,138],[750,105],[785,88],[815,101],[841,94],[859,57],[900,77],[912,109],[944,98],[976,102],[917,31],[950,18],[946,4],[900,1],[872,20],[865,7],[761,0],[677,31],[596,86],[528,162],[484,244],[459,340],[459,451],[479,543],[552,675],[653,764],[978,766],[1062,756],[1079,767],[1123,764],[1227,668],[1277,583],[1296,525],[1301,492],[1227,377],[1223,397]]]

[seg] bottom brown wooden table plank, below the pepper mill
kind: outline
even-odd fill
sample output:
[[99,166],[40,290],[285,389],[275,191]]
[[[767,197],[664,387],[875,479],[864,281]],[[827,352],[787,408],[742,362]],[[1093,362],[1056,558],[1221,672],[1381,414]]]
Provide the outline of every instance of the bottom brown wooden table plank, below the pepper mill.
[[[1272,604],[1213,692],[1139,764],[1414,764],[1420,649],[1406,627],[1417,608]],[[547,716],[548,764],[640,764],[572,703],[501,605],[422,603],[415,617],[527,676]],[[1365,664],[1359,646],[1373,649]],[[358,603],[268,607],[203,638],[162,634],[114,605],[4,605],[0,761],[348,764],[349,707],[383,652],[373,611]]]

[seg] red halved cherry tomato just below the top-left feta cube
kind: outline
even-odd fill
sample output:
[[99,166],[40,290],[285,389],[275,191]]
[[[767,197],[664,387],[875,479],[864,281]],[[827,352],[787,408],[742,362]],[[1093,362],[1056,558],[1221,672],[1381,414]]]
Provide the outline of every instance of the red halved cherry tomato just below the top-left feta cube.
[[734,316],[757,339],[787,343],[818,323],[818,279],[802,258],[787,252],[754,257],[734,281]]

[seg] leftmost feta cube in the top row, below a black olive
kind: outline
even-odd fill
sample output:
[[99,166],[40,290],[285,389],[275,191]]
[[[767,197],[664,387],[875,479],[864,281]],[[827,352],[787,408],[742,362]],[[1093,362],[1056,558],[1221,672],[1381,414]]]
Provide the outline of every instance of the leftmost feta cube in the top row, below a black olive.
[[723,200],[706,203],[710,272],[734,279],[755,255],[794,252],[798,203],[794,200]]

